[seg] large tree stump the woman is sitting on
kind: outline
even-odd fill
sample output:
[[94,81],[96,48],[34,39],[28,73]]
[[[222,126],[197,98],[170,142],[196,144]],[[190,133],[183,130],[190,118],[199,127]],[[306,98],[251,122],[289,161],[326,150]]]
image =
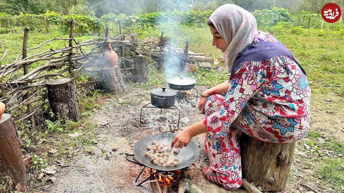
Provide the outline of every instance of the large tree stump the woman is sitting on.
[[264,191],[286,188],[295,143],[268,143],[242,134],[240,147],[243,178]]

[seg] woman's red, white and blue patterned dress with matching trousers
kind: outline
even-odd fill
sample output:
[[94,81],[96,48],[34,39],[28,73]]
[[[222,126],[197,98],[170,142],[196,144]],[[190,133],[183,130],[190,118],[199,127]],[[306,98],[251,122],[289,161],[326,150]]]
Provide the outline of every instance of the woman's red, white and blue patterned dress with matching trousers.
[[[277,39],[259,32],[255,41]],[[303,138],[309,128],[310,88],[294,60],[276,56],[239,65],[226,96],[207,99],[203,120],[208,129],[205,152],[225,189],[241,185],[242,132],[262,141],[291,143]]]

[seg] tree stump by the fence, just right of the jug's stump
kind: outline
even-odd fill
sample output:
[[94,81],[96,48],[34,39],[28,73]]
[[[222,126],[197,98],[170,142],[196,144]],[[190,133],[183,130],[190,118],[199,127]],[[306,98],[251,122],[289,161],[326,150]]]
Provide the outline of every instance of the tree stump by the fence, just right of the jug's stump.
[[148,81],[148,58],[147,56],[134,56],[134,70],[133,81],[143,82]]

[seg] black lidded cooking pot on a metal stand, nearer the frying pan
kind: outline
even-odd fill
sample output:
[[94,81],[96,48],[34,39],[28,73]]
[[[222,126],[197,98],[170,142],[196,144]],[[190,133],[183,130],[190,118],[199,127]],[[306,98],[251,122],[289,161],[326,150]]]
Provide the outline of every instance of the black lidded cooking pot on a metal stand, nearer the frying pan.
[[174,106],[176,92],[161,87],[160,89],[151,90],[151,104],[155,107],[167,109]]

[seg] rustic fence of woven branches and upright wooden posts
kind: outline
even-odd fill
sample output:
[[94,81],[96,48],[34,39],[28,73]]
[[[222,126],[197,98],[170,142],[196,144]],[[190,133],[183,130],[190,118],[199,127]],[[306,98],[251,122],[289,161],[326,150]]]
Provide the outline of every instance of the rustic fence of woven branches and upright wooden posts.
[[[109,29],[106,29],[106,34],[97,34],[88,41],[79,43],[73,37],[73,26],[74,22],[71,21],[69,38],[52,38],[31,48],[27,45],[30,34],[26,28],[23,52],[11,64],[1,64],[8,50],[1,57],[0,101],[6,105],[6,113],[12,114],[15,121],[30,118],[33,127],[37,123],[44,123],[44,113],[49,111],[46,108],[49,105],[46,83],[51,80],[70,78],[77,94],[84,94],[81,91],[85,88],[90,91],[96,84],[101,84],[103,80],[99,76],[100,70],[107,67],[103,60],[106,41],[110,41],[112,49],[118,53],[122,73],[128,75],[131,74],[128,70],[133,69],[135,55],[150,56],[156,63],[162,63],[171,54],[178,56],[180,61],[188,59],[184,50],[167,43],[162,35],[143,40],[133,33],[107,37]],[[50,48],[41,53],[26,55],[29,50],[36,51],[53,41],[68,41],[68,44],[65,43],[63,48]],[[85,76],[89,80],[77,80]],[[131,78],[131,75],[127,77]]]

